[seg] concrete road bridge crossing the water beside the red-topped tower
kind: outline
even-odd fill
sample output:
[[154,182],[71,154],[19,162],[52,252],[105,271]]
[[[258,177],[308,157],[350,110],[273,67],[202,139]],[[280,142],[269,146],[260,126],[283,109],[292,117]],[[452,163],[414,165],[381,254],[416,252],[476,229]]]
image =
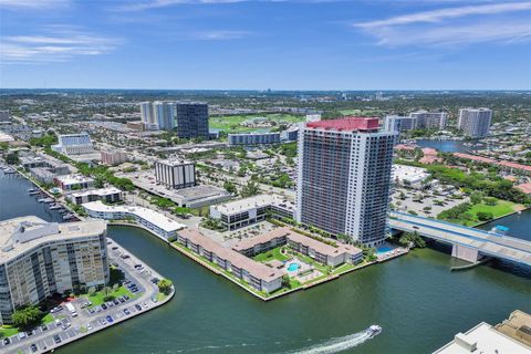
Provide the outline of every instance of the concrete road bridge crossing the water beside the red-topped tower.
[[531,241],[397,211],[389,214],[389,227],[450,243],[451,256],[469,262],[488,256],[531,267]]

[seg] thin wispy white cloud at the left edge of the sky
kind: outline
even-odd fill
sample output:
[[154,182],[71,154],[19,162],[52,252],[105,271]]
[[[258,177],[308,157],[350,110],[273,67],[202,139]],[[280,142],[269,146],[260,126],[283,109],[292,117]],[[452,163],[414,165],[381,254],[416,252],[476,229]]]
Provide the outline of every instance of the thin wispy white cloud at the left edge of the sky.
[[3,35],[0,42],[2,63],[64,62],[79,55],[105,54],[121,40],[81,32],[80,30],[50,31],[45,35]]

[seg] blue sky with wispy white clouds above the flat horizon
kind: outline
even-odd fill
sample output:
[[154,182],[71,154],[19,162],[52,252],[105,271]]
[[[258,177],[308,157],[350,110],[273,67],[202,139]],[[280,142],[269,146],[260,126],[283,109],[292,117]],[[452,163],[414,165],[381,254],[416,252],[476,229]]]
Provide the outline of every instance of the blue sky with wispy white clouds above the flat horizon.
[[531,2],[0,0],[0,87],[531,90]]

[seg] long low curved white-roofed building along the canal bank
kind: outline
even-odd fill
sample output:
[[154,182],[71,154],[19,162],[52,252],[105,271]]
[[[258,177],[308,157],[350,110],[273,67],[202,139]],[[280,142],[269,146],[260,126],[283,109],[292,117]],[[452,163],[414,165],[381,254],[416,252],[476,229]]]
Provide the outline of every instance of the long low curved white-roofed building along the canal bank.
[[105,220],[135,220],[139,226],[154,232],[160,239],[177,236],[185,226],[155,210],[131,206],[107,206],[101,200],[82,205],[91,218]]

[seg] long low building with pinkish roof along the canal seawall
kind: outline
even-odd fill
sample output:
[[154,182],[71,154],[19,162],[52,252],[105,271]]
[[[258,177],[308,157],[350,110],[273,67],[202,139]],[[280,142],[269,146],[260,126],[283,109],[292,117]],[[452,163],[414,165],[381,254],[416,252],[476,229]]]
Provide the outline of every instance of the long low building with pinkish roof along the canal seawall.
[[178,232],[178,242],[241,279],[252,288],[271,293],[282,287],[282,275],[278,269],[253,261],[237,251],[225,248],[194,229]]

